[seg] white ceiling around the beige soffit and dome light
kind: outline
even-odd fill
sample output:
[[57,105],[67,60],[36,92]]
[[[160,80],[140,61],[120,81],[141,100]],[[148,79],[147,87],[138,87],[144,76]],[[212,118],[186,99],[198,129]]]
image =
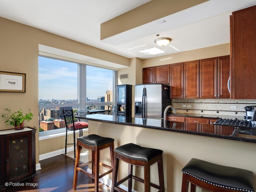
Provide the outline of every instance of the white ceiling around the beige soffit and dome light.
[[[0,17],[127,58],[152,58],[230,42],[229,16],[256,0],[210,0],[132,30],[100,40],[100,24],[150,0],[0,0]],[[139,18],[138,18],[139,19]],[[156,22],[164,20],[164,24]],[[170,37],[171,46],[154,43]],[[138,47],[139,46],[139,47]],[[134,48],[137,47],[137,48]],[[162,54],[144,54],[150,48]],[[132,48],[132,49],[131,49]]]

